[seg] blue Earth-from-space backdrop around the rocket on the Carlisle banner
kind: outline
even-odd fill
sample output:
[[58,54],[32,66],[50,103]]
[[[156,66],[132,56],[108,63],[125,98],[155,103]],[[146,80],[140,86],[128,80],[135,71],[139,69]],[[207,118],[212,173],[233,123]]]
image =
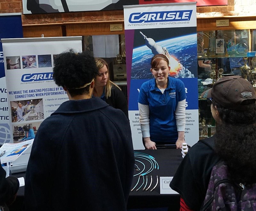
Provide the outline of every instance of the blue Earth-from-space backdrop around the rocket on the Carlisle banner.
[[[147,37],[150,38],[150,36]],[[197,77],[197,40],[195,34],[174,37],[156,44],[161,48],[165,47],[172,56],[170,59],[171,76],[176,78]],[[133,49],[131,79],[152,79],[150,61],[153,56],[151,49],[145,43]],[[177,62],[172,62],[173,59]],[[178,68],[175,67],[176,69],[173,70],[172,63],[177,63]]]

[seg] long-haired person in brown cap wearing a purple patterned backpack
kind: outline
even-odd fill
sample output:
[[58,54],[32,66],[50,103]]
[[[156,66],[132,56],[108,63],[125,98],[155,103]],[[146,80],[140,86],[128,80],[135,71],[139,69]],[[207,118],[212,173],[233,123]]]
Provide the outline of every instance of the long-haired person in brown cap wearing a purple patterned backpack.
[[[204,98],[212,103],[212,116],[217,122],[216,134],[191,147],[170,183],[170,187],[180,193],[180,210],[213,210],[213,207],[205,208],[204,199],[209,197],[206,191],[211,173],[212,177],[222,176],[220,169],[224,168],[229,183],[234,184],[232,190],[238,193],[234,192],[231,194],[233,198],[228,199],[232,206],[235,205],[231,210],[253,208],[255,203],[251,203],[248,197],[256,196],[256,186],[252,188],[256,183],[256,95],[252,84],[241,76],[222,77],[204,93]],[[209,188],[213,185],[212,177]],[[241,192],[239,184],[250,189],[250,194]],[[223,202],[221,192],[216,194],[220,195],[209,204]],[[244,207],[240,204],[242,198],[247,200]],[[218,206],[214,210],[230,210],[230,207],[225,207],[229,206],[225,200],[222,203],[224,207]]]

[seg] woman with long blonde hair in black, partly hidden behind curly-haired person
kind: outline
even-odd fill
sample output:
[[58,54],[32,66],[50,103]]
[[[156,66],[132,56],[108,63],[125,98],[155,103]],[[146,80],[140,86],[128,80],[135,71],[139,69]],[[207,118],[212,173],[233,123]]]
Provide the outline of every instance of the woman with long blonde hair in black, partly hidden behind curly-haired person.
[[121,109],[127,119],[129,119],[128,106],[124,93],[119,86],[109,80],[108,63],[104,59],[97,57],[95,58],[95,62],[98,68],[98,74],[95,77],[93,96],[101,98],[114,108]]

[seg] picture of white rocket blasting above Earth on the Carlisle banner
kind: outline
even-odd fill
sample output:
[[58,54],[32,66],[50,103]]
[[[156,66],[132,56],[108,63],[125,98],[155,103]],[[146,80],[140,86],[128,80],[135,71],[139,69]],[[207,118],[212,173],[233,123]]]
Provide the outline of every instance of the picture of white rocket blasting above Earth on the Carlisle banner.
[[150,60],[156,54],[164,54],[169,59],[170,76],[175,78],[197,77],[197,55],[196,53],[191,55],[191,52],[196,52],[195,36],[196,34],[169,39],[165,37],[156,41],[151,38],[152,34],[147,33],[147,30],[137,31],[134,34],[134,40],[140,40],[140,44],[137,43],[137,46],[133,48],[131,78],[151,79]]

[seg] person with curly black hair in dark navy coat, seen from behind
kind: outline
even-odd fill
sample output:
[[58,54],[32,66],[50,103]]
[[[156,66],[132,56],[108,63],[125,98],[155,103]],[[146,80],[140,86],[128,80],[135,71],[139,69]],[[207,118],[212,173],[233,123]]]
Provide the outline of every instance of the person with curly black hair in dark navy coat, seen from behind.
[[54,64],[53,79],[69,100],[37,131],[25,210],[126,210],[135,162],[130,123],[92,98],[98,69],[87,51],[63,52]]

